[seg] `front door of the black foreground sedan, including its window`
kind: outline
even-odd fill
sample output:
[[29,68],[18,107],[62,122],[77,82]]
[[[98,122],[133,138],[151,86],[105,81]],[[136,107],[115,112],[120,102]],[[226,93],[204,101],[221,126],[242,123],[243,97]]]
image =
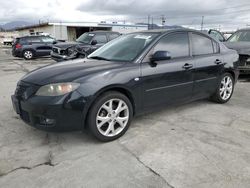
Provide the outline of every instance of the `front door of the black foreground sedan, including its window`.
[[[170,52],[171,59],[150,65],[150,56],[156,51]],[[190,100],[193,66],[187,32],[176,32],[161,38],[141,65],[144,108]]]

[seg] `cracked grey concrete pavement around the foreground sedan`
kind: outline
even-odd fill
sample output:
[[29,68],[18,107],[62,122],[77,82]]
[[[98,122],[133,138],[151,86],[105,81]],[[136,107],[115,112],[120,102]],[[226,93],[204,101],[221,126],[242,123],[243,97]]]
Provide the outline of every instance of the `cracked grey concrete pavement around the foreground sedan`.
[[14,113],[10,100],[27,72],[53,63],[25,61],[0,48],[0,187],[248,188],[250,78],[231,101],[201,100],[134,119],[119,140],[86,132],[47,133]]

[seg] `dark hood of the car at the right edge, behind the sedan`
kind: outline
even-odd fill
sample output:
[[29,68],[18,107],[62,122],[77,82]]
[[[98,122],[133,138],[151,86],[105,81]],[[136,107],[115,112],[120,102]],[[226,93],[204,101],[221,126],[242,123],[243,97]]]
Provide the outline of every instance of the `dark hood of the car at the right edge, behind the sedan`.
[[239,54],[250,55],[250,42],[224,42],[225,46],[236,50]]

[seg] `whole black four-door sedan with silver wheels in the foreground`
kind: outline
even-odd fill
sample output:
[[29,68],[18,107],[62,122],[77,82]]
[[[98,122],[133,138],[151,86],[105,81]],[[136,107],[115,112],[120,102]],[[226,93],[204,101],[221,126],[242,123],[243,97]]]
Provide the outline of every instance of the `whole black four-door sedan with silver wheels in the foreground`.
[[173,103],[230,100],[239,56],[189,29],[121,36],[85,59],[34,70],[17,84],[15,111],[43,130],[88,128],[97,139],[122,136],[133,116]]

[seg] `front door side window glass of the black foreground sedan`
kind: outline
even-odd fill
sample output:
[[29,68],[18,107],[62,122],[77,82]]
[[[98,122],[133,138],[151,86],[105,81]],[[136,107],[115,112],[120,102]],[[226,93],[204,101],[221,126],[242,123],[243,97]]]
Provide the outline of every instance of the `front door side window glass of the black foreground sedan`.
[[189,56],[188,34],[175,33],[163,37],[154,47],[156,51],[169,51],[172,58]]

